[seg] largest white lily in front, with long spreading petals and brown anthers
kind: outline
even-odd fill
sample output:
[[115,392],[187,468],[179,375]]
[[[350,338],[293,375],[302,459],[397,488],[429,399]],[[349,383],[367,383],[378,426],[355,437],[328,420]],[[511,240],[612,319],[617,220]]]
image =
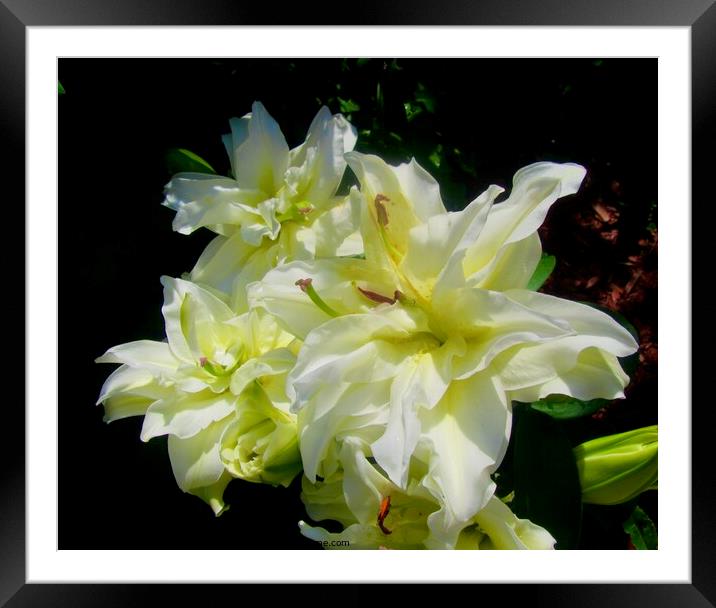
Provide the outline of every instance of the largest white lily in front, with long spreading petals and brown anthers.
[[341,444],[370,429],[369,456],[406,490],[423,446],[421,483],[440,505],[431,542],[453,547],[494,493],[511,401],[622,397],[617,357],[637,345],[602,312],[526,290],[536,230],[579,188],[579,165],[530,165],[504,202],[493,206],[502,189],[491,186],[448,213],[414,161],[346,158],[361,184],[351,197],[366,259],[283,265],[250,286],[249,301],[304,339],[288,390],[309,481],[345,466]]

